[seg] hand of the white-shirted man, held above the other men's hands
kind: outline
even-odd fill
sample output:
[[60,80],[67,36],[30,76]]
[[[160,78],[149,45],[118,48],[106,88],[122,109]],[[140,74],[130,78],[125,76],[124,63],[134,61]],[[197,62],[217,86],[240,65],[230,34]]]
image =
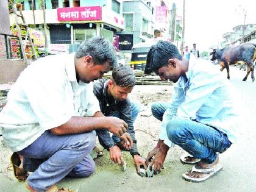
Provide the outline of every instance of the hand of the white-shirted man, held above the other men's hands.
[[109,116],[108,118],[108,128],[107,130],[109,132],[112,132],[117,137],[120,137],[126,132],[126,129],[128,129],[128,125],[125,121],[122,119],[116,118],[114,116]]

